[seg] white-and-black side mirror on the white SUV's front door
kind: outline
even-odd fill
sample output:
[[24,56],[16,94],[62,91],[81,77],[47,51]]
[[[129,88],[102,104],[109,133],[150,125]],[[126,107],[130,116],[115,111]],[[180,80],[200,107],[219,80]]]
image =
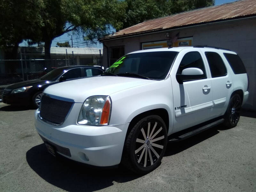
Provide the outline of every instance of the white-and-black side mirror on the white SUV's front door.
[[181,74],[176,74],[176,79],[179,84],[183,84],[184,81],[199,80],[204,78],[204,72],[199,68],[186,68],[182,70]]

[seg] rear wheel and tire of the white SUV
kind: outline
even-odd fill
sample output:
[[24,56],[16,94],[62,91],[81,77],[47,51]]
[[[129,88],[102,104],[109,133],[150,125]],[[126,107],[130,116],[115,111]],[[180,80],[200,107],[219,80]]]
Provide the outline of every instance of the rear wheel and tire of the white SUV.
[[224,115],[224,125],[227,128],[233,128],[237,125],[240,118],[242,101],[238,94],[234,94],[228,103],[227,111]]

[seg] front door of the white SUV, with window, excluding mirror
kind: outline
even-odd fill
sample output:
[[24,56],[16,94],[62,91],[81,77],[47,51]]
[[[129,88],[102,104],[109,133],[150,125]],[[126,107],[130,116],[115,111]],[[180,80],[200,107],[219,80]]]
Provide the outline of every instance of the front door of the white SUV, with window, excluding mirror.
[[[200,68],[204,77],[179,84],[176,74],[185,68]],[[171,70],[175,132],[211,119],[212,82],[199,48],[183,49]]]

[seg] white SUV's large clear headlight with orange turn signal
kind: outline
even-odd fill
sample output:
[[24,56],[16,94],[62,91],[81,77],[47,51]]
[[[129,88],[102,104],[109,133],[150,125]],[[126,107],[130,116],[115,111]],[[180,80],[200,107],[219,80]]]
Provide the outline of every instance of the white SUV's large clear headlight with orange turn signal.
[[80,110],[77,120],[83,125],[108,125],[111,112],[111,99],[109,96],[88,97]]

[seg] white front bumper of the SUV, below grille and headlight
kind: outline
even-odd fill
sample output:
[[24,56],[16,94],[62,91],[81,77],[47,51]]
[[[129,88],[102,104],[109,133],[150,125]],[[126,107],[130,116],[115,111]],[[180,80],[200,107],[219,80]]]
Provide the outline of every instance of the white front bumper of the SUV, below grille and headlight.
[[60,155],[95,166],[120,163],[129,123],[108,126],[67,125],[67,118],[63,125],[54,126],[40,120],[37,111],[35,126],[43,140],[55,148],[67,148],[70,151],[69,155],[57,149]]

